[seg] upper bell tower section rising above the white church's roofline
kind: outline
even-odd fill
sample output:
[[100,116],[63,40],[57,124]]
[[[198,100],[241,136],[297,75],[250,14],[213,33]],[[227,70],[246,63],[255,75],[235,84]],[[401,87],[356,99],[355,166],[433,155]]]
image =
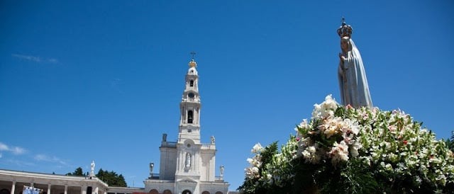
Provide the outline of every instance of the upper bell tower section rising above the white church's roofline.
[[199,96],[199,75],[197,74],[197,63],[194,56],[189,62],[182,102],[179,103],[180,119],[178,143],[184,143],[191,139],[195,144],[200,144],[200,96]]

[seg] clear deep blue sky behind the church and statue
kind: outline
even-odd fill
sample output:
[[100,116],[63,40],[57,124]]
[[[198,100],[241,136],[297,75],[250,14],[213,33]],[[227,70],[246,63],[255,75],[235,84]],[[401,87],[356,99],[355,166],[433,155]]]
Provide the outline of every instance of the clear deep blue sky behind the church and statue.
[[[341,17],[382,110],[454,130],[453,1],[1,1],[0,169],[81,166],[142,187],[177,139],[195,51],[202,142],[235,190],[250,149],[287,141],[337,82]],[[218,174],[218,172],[216,172]]]

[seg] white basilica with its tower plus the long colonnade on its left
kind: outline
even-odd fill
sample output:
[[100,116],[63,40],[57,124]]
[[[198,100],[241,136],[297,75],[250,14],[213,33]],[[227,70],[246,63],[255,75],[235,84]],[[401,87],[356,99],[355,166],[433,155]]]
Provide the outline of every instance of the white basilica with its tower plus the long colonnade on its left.
[[[228,182],[223,180],[223,166],[216,168],[216,140],[201,142],[199,74],[194,59],[189,62],[185,76],[177,142],[168,142],[162,135],[159,173],[144,181],[145,188],[112,187],[89,176],[64,176],[47,173],[9,171],[0,169],[0,194],[22,194],[33,188],[45,194],[226,194]],[[215,176],[216,169],[220,176]],[[92,169],[93,171],[93,169]]]

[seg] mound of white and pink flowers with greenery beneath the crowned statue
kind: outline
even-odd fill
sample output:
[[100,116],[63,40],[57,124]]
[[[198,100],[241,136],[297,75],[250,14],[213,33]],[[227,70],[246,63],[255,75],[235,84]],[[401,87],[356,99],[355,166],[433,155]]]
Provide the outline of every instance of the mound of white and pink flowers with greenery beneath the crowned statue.
[[454,154],[402,110],[326,96],[280,152],[256,144],[243,193],[454,193]]

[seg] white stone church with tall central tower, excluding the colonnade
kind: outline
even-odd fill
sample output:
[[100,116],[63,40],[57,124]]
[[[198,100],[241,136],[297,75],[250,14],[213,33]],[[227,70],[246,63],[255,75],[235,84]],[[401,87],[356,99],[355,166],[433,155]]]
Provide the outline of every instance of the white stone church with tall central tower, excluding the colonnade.
[[[194,55],[194,53],[193,53]],[[226,194],[229,184],[223,181],[223,166],[215,176],[216,142],[208,144],[200,139],[199,75],[194,57],[184,80],[177,142],[167,142],[162,135],[159,174],[153,173],[144,181],[147,193]]]

